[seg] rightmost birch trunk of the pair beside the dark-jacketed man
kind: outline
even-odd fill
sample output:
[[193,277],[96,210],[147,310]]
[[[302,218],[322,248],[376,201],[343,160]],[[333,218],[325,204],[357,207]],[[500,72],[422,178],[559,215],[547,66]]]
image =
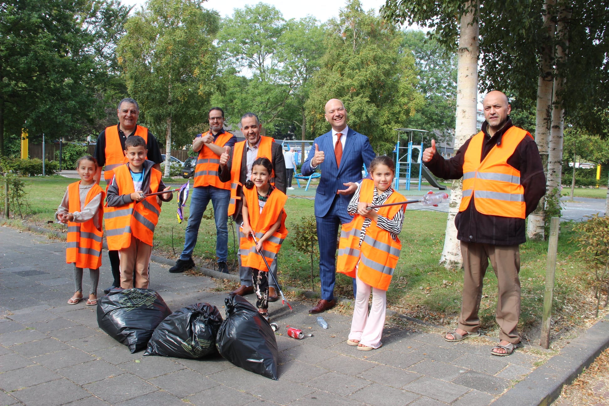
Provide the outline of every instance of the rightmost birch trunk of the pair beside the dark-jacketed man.
[[554,90],[552,91],[552,126],[550,129],[549,151],[547,155],[546,211],[551,212],[551,215],[560,215],[563,129],[565,125],[563,97],[565,96],[566,84],[566,78],[563,71],[565,69],[569,47],[566,19],[570,16],[571,12],[566,9],[566,5],[562,5],[560,12],[558,12],[558,22],[556,26],[556,69],[554,72]]

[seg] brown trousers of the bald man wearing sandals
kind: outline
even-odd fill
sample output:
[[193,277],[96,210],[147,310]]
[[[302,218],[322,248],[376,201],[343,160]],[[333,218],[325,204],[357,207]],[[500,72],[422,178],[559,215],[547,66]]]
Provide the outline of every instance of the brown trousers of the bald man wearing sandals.
[[516,330],[520,317],[520,250],[518,245],[491,245],[461,242],[463,255],[463,304],[459,328],[476,332],[480,326],[478,311],[482,298],[482,284],[490,259],[499,294],[495,320],[499,324],[499,338],[516,344],[520,336]]

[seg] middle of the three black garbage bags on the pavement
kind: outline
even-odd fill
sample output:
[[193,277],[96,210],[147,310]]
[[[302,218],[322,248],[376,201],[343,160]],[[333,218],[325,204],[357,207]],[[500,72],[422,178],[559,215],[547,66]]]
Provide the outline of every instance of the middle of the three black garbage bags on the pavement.
[[222,315],[213,304],[182,307],[157,326],[144,355],[199,359],[217,354],[216,334],[220,324]]

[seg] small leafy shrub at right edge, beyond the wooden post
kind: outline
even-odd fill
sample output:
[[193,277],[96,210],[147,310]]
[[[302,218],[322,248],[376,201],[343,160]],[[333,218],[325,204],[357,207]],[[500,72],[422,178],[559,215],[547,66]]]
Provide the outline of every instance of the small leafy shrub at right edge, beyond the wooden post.
[[[583,260],[594,268],[594,287],[596,289],[596,317],[599,317],[599,305],[602,286],[607,282],[609,274],[609,216],[599,217],[594,214],[589,220],[574,227],[578,233],[571,239],[579,246],[577,251]],[[609,302],[609,285],[605,306]]]

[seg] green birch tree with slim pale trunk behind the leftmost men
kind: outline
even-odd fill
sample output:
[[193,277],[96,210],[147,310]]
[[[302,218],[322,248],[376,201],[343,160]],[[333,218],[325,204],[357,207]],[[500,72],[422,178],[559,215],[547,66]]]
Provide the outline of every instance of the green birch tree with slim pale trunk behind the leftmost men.
[[150,0],[125,27],[118,55],[128,92],[138,100],[140,121],[161,139],[165,134],[169,158],[172,145],[192,141],[187,130],[205,121],[216,91],[219,16],[194,0]]

